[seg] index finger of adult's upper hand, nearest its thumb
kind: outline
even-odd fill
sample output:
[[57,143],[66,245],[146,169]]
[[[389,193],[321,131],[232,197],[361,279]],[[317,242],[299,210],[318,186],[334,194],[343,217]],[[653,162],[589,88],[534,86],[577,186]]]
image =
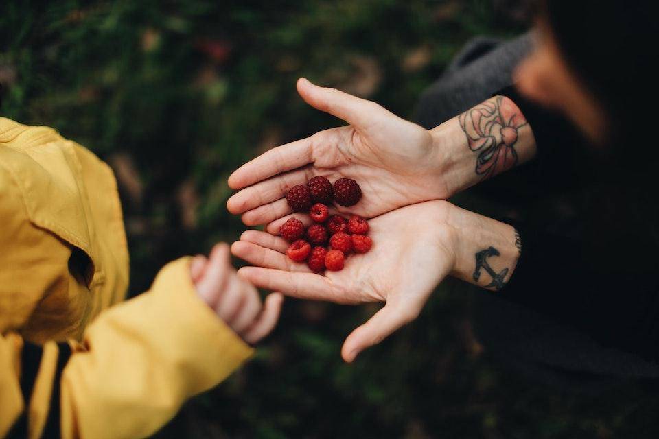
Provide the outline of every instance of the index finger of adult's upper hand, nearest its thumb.
[[229,176],[229,187],[242,189],[282,172],[308,165],[312,162],[312,150],[312,137],[308,137],[264,152],[236,169]]

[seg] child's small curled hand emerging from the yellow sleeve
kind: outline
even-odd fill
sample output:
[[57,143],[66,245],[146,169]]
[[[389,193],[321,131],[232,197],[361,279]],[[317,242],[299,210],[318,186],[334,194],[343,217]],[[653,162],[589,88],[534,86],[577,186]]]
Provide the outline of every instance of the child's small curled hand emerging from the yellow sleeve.
[[195,257],[190,272],[199,297],[246,342],[255,344],[277,324],[284,296],[272,293],[262,305],[255,287],[231,266],[227,244],[216,244],[209,259]]

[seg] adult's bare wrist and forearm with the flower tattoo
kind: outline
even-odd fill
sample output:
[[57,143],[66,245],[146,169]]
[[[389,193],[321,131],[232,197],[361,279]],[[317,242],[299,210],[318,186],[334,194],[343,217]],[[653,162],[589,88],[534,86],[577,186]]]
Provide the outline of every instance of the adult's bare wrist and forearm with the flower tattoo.
[[[448,196],[531,160],[531,126],[520,108],[494,96],[430,130]],[[447,197],[448,198],[448,197]]]

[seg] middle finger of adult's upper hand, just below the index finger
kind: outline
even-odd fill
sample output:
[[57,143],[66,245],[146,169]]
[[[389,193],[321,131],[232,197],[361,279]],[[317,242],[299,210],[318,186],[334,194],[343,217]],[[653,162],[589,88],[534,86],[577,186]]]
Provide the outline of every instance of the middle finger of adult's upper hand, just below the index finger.
[[311,168],[305,167],[258,182],[229,198],[227,209],[234,215],[240,215],[264,204],[285,198],[288,189],[294,185],[304,184],[311,177]]

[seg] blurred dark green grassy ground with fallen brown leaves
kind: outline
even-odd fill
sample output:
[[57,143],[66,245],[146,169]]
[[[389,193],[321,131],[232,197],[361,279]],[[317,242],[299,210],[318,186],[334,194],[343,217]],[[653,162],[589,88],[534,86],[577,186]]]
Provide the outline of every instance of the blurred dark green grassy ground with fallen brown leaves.
[[[469,38],[527,26],[504,0],[4,0],[0,115],[54,126],[111,164],[139,294],[167,261],[238,238],[224,207],[233,169],[341,123],[305,106],[299,76],[411,117]],[[288,300],[254,361],[157,436],[636,438],[659,410],[642,383],[564,392],[503,368],[450,281],[343,364],[344,337],[375,309]]]

